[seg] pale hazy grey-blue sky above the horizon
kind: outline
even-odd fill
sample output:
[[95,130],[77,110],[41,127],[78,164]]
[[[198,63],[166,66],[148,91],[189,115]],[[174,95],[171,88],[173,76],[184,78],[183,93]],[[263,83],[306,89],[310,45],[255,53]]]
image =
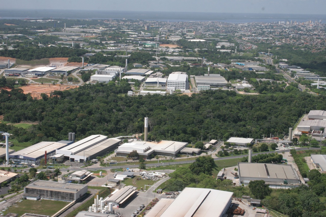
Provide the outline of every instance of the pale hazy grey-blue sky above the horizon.
[[[325,14],[326,0],[12,0],[3,9]],[[0,14],[1,16],[1,14]]]

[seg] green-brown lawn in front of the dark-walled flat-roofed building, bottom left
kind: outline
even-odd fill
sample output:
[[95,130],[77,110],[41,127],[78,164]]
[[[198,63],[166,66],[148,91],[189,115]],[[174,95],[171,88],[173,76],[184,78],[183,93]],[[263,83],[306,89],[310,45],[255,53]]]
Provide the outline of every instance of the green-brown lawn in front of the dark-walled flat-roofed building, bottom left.
[[57,200],[23,200],[22,202],[13,204],[6,212],[4,212],[4,214],[12,212],[17,213],[18,216],[21,216],[27,212],[52,216],[54,213],[61,210],[68,204],[69,202]]

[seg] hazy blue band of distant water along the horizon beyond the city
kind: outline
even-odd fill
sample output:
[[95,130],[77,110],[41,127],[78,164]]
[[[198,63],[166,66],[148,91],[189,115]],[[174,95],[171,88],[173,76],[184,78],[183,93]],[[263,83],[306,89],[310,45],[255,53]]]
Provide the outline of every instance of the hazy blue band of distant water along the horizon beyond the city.
[[[315,21],[326,20],[325,14],[262,14],[262,13],[203,13],[203,12],[155,12],[155,11],[101,11],[101,10],[16,10],[0,9],[0,19],[132,19],[162,22],[205,22],[228,23]],[[13,16],[15,15],[15,17]]]

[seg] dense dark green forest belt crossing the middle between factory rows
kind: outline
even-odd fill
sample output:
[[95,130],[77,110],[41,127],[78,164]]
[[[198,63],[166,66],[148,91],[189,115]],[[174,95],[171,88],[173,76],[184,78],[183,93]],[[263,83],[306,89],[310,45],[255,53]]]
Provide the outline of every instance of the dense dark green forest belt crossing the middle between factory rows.
[[[234,91],[202,91],[187,95],[126,96],[126,82],[84,85],[78,89],[54,91],[50,97],[33,99],[21,89],[1,90],[0,115],[11,123],[37,121],[24,130],[1,124],[20,141],[78,139],[93,134],[109,137],[143,132],[149,117],[149,139],[203,141],[208,137],[260,138],[263,134],[287,132],[299,117],[311,109],[326,110],[323,96],[312,96],[288,86],[283,93],[240,95]],[[16,131],[16,132],[13,132]]]

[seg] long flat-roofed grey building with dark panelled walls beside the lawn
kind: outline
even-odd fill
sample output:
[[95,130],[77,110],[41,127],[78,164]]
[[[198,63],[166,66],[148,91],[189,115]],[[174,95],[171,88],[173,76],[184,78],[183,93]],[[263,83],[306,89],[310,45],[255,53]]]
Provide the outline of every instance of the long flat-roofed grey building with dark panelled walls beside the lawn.
[[24,188],[24,193],[50,200],[74,201],[87,193],[87,185],[37,180]]

